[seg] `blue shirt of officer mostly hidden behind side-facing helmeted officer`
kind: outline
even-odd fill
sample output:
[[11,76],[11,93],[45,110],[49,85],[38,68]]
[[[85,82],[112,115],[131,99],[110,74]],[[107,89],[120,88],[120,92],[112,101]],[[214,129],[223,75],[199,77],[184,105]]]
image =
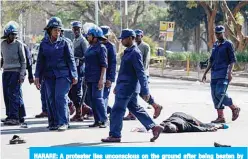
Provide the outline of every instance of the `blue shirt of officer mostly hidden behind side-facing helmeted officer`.
[[106,73],[106,80],[115,82],[116,75],[116,48],[111,42],[104,43],[108,51],[108,68]]

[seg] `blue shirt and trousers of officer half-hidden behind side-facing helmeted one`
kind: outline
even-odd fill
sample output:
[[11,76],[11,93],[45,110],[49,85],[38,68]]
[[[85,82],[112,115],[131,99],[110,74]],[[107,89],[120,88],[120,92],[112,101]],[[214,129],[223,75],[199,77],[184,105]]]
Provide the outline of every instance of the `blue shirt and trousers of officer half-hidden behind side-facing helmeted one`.
[[[116,48],[115,45],[110,43],[104,43],[108,51],[108,68],[106,73],[106,80],[111,82],[115,82],[115,75],[116,75]],[[104,87],[103,99],[105,103],[105,108],[108,107],[108,97],[110,93],[111,87]]]

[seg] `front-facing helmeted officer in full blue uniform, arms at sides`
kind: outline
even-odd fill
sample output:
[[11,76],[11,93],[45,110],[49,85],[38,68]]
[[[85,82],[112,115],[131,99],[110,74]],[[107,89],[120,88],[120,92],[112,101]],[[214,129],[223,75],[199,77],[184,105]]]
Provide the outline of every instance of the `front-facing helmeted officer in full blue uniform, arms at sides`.
[[64,131],[68,128],[68,92],[77,83],[77,69],[68,42],[60,37],[62,22],[50,18],[41,44],[35,71],[35,85],[40,89],[40,77],[44,78],[48,100],[49,129]]

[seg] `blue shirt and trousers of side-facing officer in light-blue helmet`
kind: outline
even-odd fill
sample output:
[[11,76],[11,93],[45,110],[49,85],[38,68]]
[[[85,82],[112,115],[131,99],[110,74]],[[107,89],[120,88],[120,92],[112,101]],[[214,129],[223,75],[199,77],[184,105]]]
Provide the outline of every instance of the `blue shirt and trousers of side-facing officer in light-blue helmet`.
[[101,68],[107,68],[107,49],[100,42],[91,45],[85,52],[85,81],[88,86],[88,100],[94,112],[95,123],[106,122],[107,112],[103,100],[103,89],[98,89]]

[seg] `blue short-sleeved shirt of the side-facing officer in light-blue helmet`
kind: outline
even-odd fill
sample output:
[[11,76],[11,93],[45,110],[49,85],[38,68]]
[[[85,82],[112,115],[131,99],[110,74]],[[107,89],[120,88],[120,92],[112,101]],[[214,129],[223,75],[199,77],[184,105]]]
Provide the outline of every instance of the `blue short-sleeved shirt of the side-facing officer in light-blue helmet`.
[[[107,49],[106,47],[97,42],[85,52],[85,81],[86,82],[99,82],[101,77],[102,67],[107,68]],[[106,77],[104,77],[105,80]]]

